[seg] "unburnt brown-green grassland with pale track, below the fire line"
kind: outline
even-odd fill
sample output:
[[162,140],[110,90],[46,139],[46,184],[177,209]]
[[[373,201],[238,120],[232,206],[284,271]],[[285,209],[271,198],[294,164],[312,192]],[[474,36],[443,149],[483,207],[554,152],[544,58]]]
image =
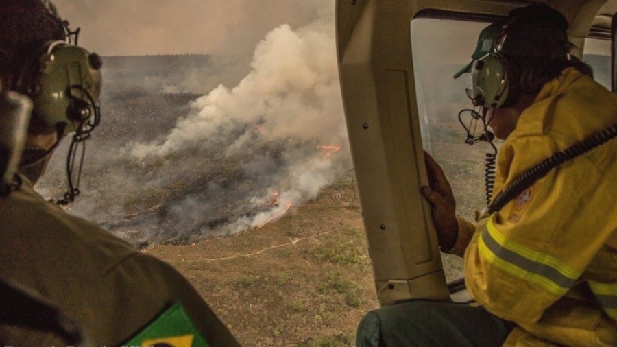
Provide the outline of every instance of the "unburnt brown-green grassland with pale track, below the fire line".
[[350,179],[263,228],[143,252],[189,278],[243,346],[352,346],[378,307]]

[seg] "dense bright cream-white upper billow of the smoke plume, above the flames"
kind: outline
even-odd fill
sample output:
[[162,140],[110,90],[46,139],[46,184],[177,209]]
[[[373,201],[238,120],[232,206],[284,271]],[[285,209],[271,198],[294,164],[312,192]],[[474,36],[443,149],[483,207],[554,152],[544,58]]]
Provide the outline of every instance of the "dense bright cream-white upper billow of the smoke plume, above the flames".
[[[260,123],[269,139],[340,142],[345,128],[335,42],[332,28],[320,22],[297,31],[282,25],[269,32],[256,47],[253,70],[238,86],[220,85],[197,99],[195,112],[178,121],[165,142],[134,145],[131,153],[166,156],[208,146],[237,123]],[[238,141],[233,147],[242,149],[243,139]]]

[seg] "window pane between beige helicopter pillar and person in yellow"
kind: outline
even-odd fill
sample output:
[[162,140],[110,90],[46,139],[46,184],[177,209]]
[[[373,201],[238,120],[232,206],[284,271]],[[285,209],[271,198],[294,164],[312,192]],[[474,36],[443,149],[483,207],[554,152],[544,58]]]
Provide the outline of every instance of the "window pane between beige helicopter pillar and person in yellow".
[[[453,75],[471,61],[477,37],[487,23],[419,18],[411,21],[411,49],[416,98],[424,149],[444,168],[457,200],[457,212],[473,220],[485,204],[486,142],[465,143],[467,132],[459,121],[461,110],[473,108],[465,94],[469,74]],[[466,126],[483,130],[470,112],[461,114]],[[442,255],[448,282],[463,276],[458,256]]]

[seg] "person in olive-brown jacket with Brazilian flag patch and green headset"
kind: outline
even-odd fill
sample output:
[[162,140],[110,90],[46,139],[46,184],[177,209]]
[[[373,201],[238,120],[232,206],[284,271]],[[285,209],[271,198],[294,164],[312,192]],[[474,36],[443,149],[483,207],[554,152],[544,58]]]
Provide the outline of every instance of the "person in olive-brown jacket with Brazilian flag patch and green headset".
[[100,117],[101,58],[54,12],[0,1],[0,344],[238,346],[176,270],[34,191],[58,142],[82,145]]

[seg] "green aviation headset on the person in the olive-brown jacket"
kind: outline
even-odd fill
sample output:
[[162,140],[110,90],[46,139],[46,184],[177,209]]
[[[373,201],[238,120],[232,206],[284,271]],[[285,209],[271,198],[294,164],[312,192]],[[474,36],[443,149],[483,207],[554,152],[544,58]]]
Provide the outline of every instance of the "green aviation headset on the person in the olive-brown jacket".
[[[58,141],[64,135],[73,133],[66,160],[69,189],[64,193],[64,198],[57,201],[58,204],[68,204],[80,193],[84,141],[101,119],[102,59],[98,54],[78,46],[79,29],[72,32],[68,22],[60,19],[53,5],[50,8],[49,1],[43,3],[64,29],[66,40],[47,41],[27,50],[28,53],[17,64],[19,67],[13,74],[11,89],[32,100],[29,132],[37,134],[55,130]],[[80,145],[81,151],[78,151]],[[53,148],[47,154],[51,150]],[[76,160],[77,152],[80,152],[79,160]],[[38,161],[25,165],[36,165]],[[79,167],[73,177],[75,165]]]

